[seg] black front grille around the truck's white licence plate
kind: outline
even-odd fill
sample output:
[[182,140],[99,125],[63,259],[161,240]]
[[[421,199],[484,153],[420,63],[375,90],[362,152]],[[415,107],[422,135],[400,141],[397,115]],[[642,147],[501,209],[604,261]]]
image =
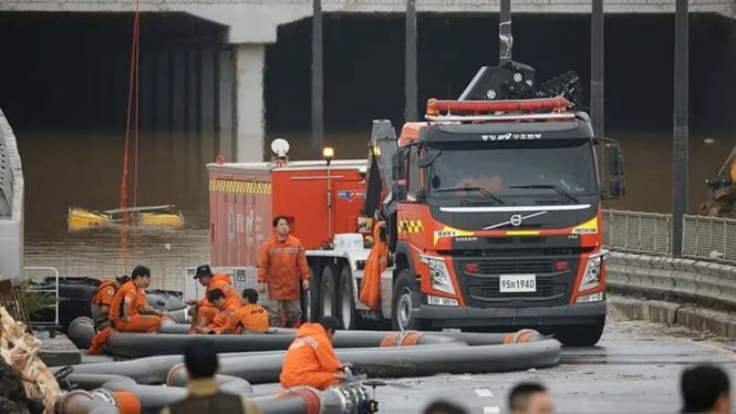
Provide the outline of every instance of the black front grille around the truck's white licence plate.
[[[566,261],[568,268],[556,270],[556,262]],[[477,272],[468,272],[465,265],[477,263]],[[465,302],[476,308],[524,308],[567,304],[570,287],[578,272],[577,257],[456,260],[456,273]],[[500,292],[500,275],[536,275],[535,292]]]

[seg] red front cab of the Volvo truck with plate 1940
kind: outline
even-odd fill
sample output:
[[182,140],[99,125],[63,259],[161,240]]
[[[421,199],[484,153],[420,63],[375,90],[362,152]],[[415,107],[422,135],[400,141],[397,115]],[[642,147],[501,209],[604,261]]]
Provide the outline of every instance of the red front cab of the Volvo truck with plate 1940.
[[594,137],[582,112],[496,120],[490,102],[467,116],[456,102],[447,121],[428,115],[397,139],[393,328],[533,328],[594,344],[601,200],[624,192],[618,144]]

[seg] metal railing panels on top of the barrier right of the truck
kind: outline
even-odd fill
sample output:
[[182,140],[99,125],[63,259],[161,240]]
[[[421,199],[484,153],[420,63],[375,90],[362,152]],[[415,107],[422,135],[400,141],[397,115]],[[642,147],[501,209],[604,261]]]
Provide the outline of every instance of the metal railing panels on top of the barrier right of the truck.
[[[683,257],[736,263],[736,219],[685,215]],[[603,245],[611,250],[672,255],[672,215],[603,210]]]

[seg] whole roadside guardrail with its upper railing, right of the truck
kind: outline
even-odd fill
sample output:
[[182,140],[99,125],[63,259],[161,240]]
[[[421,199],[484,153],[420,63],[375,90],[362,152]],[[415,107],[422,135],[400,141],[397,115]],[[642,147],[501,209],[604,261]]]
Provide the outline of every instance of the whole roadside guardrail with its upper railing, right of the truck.
[[685,215],[683,257],[672,257],[672,215],[603,211],[609,287],[626,296],[736,309],[736,220]]

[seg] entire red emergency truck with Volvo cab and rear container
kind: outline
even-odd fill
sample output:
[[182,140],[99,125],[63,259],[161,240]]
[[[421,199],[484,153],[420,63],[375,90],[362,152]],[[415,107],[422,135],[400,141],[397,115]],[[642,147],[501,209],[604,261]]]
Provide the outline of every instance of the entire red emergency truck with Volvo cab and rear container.
[[[326,148],[324,159],[292,162],[277,142],[271,162],[208,164],[212,265],[253,268],[281,214],[309,249],[308,318],[334,314],[348,329],[361,319],[402,330],[532,328],[597,343],[601,200],[624,194],[619,145],[595,137],[562,93],[493,95],[429,100],[426,121],[398,136],[374,121],[367,159],[332,159]],[[359,298],[377,221],[388,263],[371,309]]]

